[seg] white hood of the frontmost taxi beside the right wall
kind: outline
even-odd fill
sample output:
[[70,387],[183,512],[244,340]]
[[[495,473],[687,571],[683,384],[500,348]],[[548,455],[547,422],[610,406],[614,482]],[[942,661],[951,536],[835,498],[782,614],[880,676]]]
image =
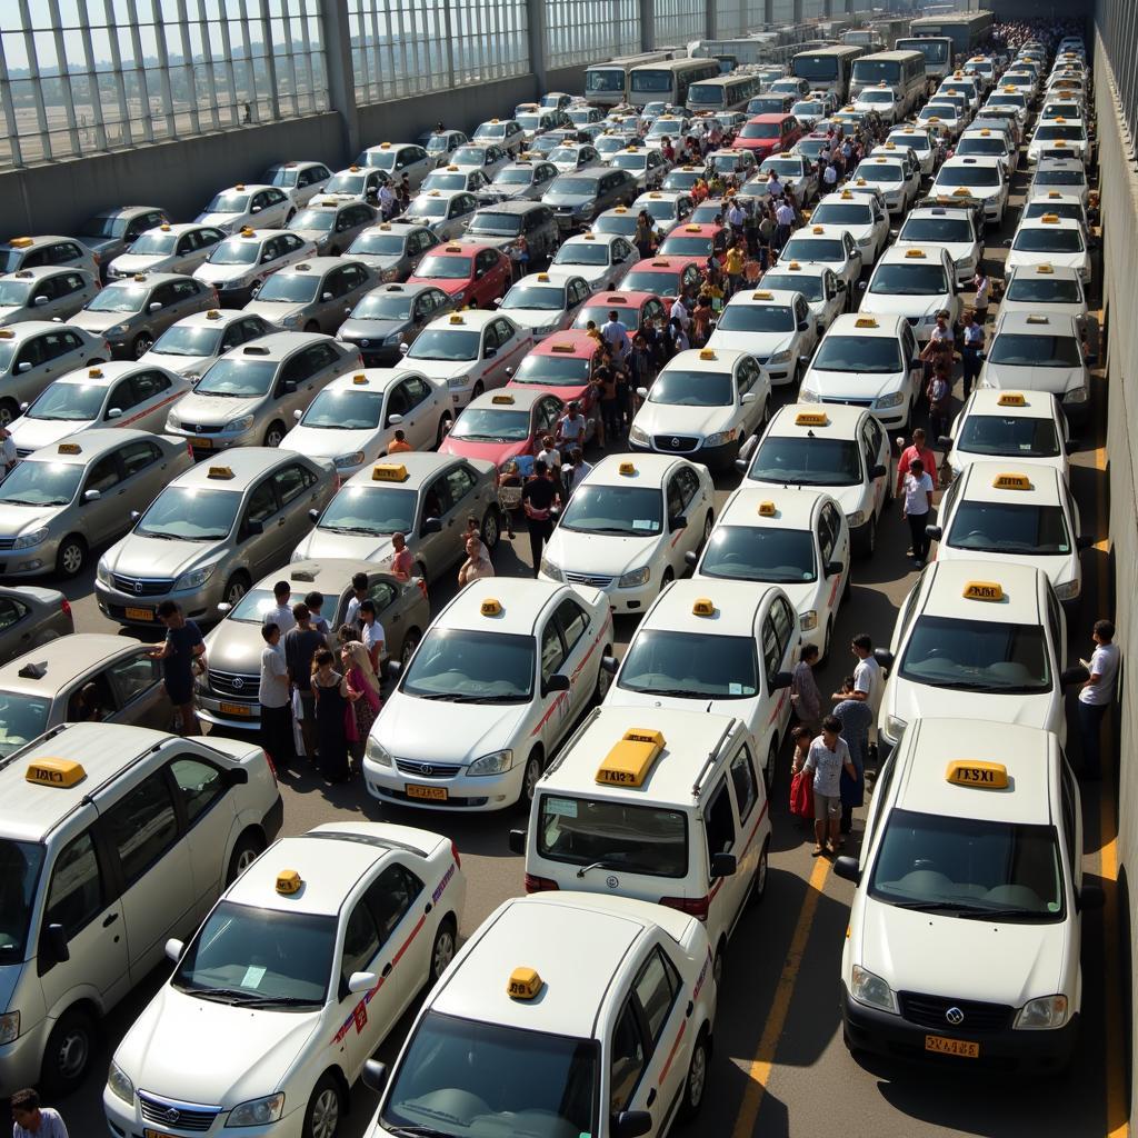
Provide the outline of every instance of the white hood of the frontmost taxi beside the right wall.
[[[954,964],[960,960],[984,962],[967,970],[970,1000],[1022,1007],[1064,990],[1067,937],[1061,924],[962,920],[866,897],[858,939],[850,946],[853,959],[894,991],[957,997],[960,973]],[[967,1030],[966,1020],[962,1028]],[[950,1033],[947,1023],[945,1030]]]

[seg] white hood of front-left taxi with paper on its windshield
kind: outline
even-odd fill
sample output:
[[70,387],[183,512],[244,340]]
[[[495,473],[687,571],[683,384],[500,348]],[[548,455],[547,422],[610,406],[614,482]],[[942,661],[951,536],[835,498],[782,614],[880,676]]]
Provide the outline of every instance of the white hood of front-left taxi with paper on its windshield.
[[[118,1045],[115,1062],[139,1090],[232,1107],[281,1086],[321,1012],[232,1007],[165,986]],[[188,1064],[190,1039],[208,1046]]]

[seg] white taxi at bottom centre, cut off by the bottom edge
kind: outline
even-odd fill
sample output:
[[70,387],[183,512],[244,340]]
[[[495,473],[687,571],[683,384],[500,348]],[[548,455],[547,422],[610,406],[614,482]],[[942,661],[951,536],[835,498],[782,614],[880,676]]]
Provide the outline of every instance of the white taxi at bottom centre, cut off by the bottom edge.
[[366,1138],[437,1135],[440,1102],[451,1133],[663,1138],[703,1105],[715,1006],[696,917],[571,891],[505,901],[390,1073],[364,1071],[381,1095]]

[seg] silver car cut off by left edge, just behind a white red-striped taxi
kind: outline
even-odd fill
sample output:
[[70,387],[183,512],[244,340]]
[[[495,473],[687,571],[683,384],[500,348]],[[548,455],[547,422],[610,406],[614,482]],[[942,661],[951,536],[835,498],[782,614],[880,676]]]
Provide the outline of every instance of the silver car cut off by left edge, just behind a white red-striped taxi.
[[110,345],[74,324],[25,320],[0,328],[0,427],[19,417],[20,407],[76,368],[110,358]]

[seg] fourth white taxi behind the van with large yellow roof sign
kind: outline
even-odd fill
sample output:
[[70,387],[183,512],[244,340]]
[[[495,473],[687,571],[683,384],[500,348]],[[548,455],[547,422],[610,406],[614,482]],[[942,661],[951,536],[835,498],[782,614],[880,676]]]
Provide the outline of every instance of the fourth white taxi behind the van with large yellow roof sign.
[[921,397],[924,365],[900,315],[839,316],[802,377],[800,403],[869,409],[888,430],[906,428]]

